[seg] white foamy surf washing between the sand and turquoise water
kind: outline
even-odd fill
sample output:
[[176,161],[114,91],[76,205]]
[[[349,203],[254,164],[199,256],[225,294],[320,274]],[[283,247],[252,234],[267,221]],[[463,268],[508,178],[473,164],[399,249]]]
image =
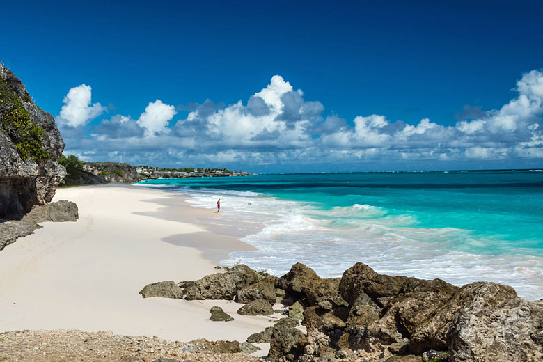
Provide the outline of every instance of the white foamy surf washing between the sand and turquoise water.
[[237,230],[242,241],[257,249],[230,253],[222,261],[225,265],[244,263],[281,276],[295,262],[303,262],[329,278],[364,262],[385,274],[442,278],[455,285],[494,281],[512,285],[526,299],[543,297],[543,258],[473,253],[478,244],[485,249],[496,240],[475,237],[470,230],[412,227],[417,221],[411,215],[393,215],[367,204],[319,210],[315,204],[250,191],[178,192],[189,196],[195,207],[208,209],[217,207],[221,198],[221,217],[200,222]]

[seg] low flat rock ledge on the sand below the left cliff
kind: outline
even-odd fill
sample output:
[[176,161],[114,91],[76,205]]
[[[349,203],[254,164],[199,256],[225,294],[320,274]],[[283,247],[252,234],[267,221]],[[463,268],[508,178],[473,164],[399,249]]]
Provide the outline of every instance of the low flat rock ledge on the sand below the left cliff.
[[19,237],[30,235],[38,223],[46,221],[77,221],[79,218],[77,205],[71,201],[61,200],[48,205],[35,206],[21,220],[10,220],[0,223],[0,250],[17,240]]

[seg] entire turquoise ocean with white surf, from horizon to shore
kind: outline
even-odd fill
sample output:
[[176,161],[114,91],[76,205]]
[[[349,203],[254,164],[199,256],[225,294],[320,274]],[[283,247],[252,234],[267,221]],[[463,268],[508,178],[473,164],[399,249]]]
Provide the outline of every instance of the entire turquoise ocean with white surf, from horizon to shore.
[[256,251],[244,263],[281,276],[303,262],[338,277],[356,262],[377,272],[494,281],[543,299],[543,170],[253,175],[143,180],[221,214]]

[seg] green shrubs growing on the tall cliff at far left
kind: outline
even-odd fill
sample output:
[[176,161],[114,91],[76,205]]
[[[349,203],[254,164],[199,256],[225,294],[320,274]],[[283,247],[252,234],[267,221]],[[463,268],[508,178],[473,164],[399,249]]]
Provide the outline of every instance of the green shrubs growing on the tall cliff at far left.
[[[28,93],[26,93],[28,95]],[[30,95],[24,97],[31,101]],[[17,148],[23,161],[28,159],[46,159],[51,154],[43,148],[43,129],[33,123],[30,112],[24,109],[19,97],[9,84],[0,78],[0,128]]]

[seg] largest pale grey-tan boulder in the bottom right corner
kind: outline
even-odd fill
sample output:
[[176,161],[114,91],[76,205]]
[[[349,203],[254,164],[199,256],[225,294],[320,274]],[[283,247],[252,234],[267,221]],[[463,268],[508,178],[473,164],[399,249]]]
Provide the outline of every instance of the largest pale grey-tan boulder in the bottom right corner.
[[491,304],[479,295],[455,320],[448,350],[451,361],[543,361],[542,331],[543,301],[513,298]]

